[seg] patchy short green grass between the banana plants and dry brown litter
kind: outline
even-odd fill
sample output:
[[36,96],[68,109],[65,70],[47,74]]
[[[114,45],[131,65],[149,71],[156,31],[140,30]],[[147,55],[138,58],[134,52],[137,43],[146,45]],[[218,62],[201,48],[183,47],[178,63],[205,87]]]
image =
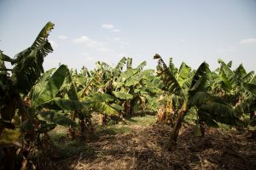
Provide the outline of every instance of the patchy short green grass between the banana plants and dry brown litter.
[[[94,115],[96,116],[96,115]],[[96,119],[95,119],[96,121]],[[91,142],[96,142],[104,138],[113,138],[114,135],[132,133],[134,130],[149,127],[155,122],[155,116],[135,116],[127,119],[125,123],[115,125],[96,125],[95,134]],[[96,122],[95,122],[96,124]],[[53,140],[58,159],[70,158],[73,156],[93,155],[93,149],[79,139],[70,140],[67,138],[68,127],[57,125],[49,132]]]

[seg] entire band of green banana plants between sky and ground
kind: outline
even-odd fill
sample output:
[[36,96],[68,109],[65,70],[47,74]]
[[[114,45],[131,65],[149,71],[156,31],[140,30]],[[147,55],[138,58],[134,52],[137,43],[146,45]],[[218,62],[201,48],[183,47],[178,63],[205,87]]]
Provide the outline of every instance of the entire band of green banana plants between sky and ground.
[[[206,62],[192,70],[185,63],[177,68],[172,58],[166,65],[155,54],[156,71],[143,70],[145,61],[133,67],[132,59],[124,57],[115,66],[96,62],[92,71],[60,65],[44,72],[44,57],[53,52],[48,41],[53,27],[47,23],[32,46],[14,58],[0,52],[0,144],[4,166],[9,169],[15,169],[20,156],[20,165],[26,166],[29,152],[49,138],[47,133],[56,124],[39,118],[49,111],[68,111],[73,122],[79,120],[82,140],[92,133],[92,112],[102,114],[103,123],[158,113],[158,122],[173,127],[170,149],[187,115],[196,117],[195,133],[201,136],[205,126],[218,127],[219,123],[243,128],[256,125],[256,77],[242,65],[232,71],[231,61],[226,64],[218,59],[215,71]],[[13,68],[6,68],[5,62]]]

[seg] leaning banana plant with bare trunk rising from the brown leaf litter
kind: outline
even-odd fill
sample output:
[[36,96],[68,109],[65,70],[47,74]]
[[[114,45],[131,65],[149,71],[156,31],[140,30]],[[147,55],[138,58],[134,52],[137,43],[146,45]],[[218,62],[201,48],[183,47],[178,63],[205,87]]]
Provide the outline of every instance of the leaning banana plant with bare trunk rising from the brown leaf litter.
[[182,106],[177,111],[177,121],[172,129],[170,138],[170,149],[177,142],[179,129],[183,122],[183,117],[192,107],[197,107],[199,119],[206,122],[209,126],[216,126],[216,122],[224,122],[226,124],[241,125],[241,115],[236,112],[230,105],[224,103],[223,99],[208,94],[211,89],[211,71],[207,63],[202,63],[192,80],[189,81],[189,88],[182,88],[177,78],[169,71],[160,55],[154,55],[154,59],[159,59],[158,69],[160,77],[165,82],[169,93],[175,94],[183,99]]

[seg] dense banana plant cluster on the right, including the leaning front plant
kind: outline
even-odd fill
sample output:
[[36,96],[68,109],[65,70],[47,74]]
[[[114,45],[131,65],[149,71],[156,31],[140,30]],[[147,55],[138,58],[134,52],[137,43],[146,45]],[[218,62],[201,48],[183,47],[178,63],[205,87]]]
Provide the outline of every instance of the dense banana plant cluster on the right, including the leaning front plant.
[[242,65],[232,71],[232,62],[225,64],[222,59],[218,59],[220,67],[216,71],[210,71],[206,62],[192,71],[184,63],[177,70],[172,59],[168,67],[159,54],[155,54],[154,59],[158,59],[157,72],[165,82],[167,98],[171,104],[176,103],[168,105],[177,117],[169,149],[177,142],[184,116],[191,112],[196,115],[195,133],[200,136],[204,134],[205,124],[210,127],[218,127],[219,122],[236,127],[255,126],[256,77],[253,71],[247,73]]

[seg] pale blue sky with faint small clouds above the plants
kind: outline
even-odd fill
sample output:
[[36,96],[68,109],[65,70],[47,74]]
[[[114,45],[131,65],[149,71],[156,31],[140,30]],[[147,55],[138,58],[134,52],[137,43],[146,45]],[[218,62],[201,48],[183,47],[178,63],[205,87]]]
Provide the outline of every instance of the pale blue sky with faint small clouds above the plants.
[[116,65],[123,56],[155,68],[157,53],[177,67],[207,61],[215,69],[221,58],[256,71],[255,0],[0,0],[0,49],[14,56],[48,21],[55,51],[45,69],[93,69],[97,60]]

